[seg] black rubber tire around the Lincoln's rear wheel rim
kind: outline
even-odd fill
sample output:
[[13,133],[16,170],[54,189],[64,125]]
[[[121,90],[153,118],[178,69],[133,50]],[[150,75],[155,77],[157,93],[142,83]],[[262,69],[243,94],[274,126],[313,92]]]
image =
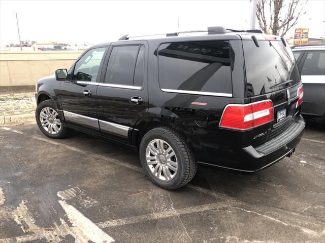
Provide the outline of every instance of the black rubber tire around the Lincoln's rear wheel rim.
[[[154,139],[166,141],[176,154],[178,170],[176,175],[169,181],[156,178],[147,165],[146,148],[149,142]],[[149,179],[157,186],[168,190],[175,190],[187,184],[193,179],[198,168],[194,155],[186,141],[180,134],[168,127],[158,127],[144,135],[140,143],[140,160]]]

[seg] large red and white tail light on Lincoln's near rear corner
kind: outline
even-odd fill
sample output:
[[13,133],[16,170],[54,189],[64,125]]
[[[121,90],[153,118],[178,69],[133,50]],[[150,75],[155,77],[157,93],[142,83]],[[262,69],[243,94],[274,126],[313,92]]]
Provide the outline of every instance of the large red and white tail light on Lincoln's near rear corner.
[[219,127],[248,130],[273,120],[271,100],[258,101],[246,105],[227,105],[222,113]]

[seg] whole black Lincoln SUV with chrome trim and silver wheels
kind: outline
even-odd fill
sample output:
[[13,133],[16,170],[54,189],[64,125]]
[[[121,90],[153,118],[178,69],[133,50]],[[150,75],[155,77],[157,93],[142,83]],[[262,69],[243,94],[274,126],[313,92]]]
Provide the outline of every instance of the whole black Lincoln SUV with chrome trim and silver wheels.
[[203,163],[244,172],[291,155],[305,121],[303,87],[283,38],[261,31],[123,36],[37,83],[50,138],[80,130],[140,150],[150,180],[188,183]]

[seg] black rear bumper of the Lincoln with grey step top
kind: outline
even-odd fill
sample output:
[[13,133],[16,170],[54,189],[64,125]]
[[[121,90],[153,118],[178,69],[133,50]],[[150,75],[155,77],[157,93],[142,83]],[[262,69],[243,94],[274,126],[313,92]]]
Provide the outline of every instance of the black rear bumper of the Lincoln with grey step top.
[[305,120],[299,115],[283,133],[272,140],[255,148],[248,146],[234,151],[238,158],[236,161],[223,161],[223,163],[219,161],[216,164],[199,163],[243,172],[256,172],[275,164],[284,156],[294,152],[303,136],[304,128]]

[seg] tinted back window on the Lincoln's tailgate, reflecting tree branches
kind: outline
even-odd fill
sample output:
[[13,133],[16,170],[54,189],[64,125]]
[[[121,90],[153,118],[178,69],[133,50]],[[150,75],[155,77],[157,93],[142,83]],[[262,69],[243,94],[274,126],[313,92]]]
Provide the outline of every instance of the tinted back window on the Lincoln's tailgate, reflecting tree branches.
[[[279,41],[243,41],[248,96],[262,95],[300,82],[294,54]],[[281,85],[288,80],[289,83]]]

